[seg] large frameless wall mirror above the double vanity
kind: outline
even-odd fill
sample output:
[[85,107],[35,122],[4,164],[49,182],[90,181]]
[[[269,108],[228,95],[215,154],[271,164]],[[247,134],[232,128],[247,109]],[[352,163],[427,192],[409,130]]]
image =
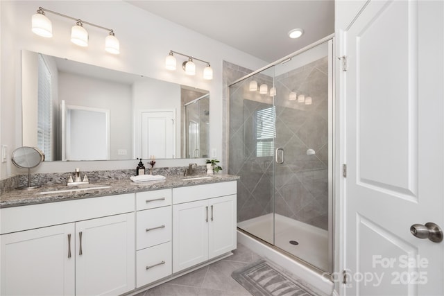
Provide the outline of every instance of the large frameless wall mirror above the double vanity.
[[38,147],[46,161],[207,157],[208,106],[198,142],[193,139],[202,151],[185,149],[185,104],[204,95],[209,98],[206,90],[22,51],[22,144]]

